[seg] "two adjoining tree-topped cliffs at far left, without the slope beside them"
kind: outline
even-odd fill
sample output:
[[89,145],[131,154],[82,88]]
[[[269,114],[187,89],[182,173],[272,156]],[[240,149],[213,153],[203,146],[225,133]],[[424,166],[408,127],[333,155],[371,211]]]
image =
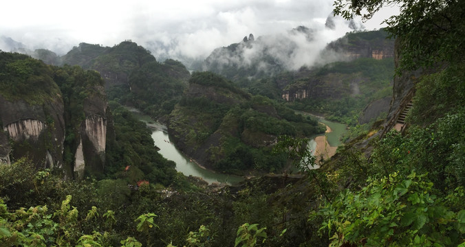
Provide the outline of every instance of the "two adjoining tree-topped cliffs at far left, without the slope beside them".
[[76,179],[102,173],[113,123],[100,75],[21,54],[0,56],[2,160],[28,156]]

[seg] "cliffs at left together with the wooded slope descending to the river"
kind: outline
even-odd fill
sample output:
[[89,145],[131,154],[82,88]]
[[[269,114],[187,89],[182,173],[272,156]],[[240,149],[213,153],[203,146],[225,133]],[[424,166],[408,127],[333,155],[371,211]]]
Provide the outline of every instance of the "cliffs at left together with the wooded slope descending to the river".
[[76,180],[171,184],[173,162],[156,152],[144,124],[116,102],[108,107],[104,83],[95,71],[1,52],[1,161],[28,157],[36,167],[60,169]]

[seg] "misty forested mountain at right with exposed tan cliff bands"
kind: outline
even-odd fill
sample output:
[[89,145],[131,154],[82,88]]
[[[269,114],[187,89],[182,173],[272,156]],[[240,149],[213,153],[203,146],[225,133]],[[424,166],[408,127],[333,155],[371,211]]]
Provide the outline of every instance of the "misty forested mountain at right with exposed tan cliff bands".
[[[280,73],[271,81],[292,108],[367,124],[389,110],[389,100],[380,100],[390,97],[394,75],[394,42],[386,38],[384,30],[348,33],[321,53],[338,54],[340,61]],[[360,122],[358,115],[364,116]]]

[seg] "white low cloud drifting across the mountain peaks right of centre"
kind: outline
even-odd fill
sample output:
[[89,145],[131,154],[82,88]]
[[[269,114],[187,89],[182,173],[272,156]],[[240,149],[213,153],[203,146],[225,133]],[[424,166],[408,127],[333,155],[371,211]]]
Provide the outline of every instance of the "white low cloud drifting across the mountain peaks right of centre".
[[299,26],[287,32],[259,36],[255,41],[244,38],[244,42],[233,47],[215,49],[202,69],[220,72],[242,68],[272,75],[283,69],[294,71],[303,66],[343,60],[345,56],[334,51],[325,51],[324,54],[321,51],[341,34],[354,30],[354,27],[361,28],[362,25],[353,20],[329,16],[325,21],[310,23],[309,27]]

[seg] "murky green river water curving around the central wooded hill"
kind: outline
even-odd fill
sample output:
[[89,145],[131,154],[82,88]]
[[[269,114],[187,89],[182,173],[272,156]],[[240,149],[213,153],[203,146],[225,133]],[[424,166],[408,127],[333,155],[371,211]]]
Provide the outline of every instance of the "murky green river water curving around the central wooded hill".
[[[176,170],[177,172],[182,172],[182,174],[189,176],[197,176],[203,178],[208,183],[227,183],[228,185],[234,185],[242,180],[243,177],[234,176],[230,174],[221,174],[217,172],[210,171],[208,169],[203,169],[195,161],[188,158],[182,152],[177,150],[175,145],[172,143],[171,139],[169,138],[168,131],[166,130],[166,126],[159,124],[158,122],[154,121],[148,115],[144,115],[139,110],[134,108],[128,108],[128,110],[133,113],[140,121],[144,121],[151,130],[153,130],[151,136],[155,146],[160,148],[158,151],[164,158],[167,158],[171,161],[176,163]],[[344,124],[334,123],[332,121],[327,121],[323,118],[318,118],[323,124],[326,124],[331,128],[332,132],[327,133],[327,141],[331,146],[338,146],[340,145],[339,137],[346,131],[346,126]],[[315,150],[316,142],[314,141],[314,137],[311,138],[309,143],[310,149]]]

